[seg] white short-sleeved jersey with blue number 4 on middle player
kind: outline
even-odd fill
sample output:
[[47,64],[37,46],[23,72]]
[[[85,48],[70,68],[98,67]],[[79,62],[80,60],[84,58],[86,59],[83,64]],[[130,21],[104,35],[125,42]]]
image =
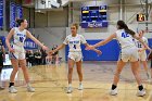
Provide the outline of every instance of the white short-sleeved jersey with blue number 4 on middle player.
[[68,35],[64,42],[64,45],[68,45],[69,52],[79,52],[81,51],[80,45],[87,43],[86,39],[81,35],[76,35],[76,37],[73,37],[72,35]]

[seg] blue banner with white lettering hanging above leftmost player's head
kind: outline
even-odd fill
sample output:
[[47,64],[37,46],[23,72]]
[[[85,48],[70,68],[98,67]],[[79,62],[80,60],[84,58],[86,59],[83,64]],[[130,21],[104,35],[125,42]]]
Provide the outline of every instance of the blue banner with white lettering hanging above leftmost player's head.
[[10,2],[10,28],[16,26],[15,20],[23,17],[22,5],[16,4],[15,2]]

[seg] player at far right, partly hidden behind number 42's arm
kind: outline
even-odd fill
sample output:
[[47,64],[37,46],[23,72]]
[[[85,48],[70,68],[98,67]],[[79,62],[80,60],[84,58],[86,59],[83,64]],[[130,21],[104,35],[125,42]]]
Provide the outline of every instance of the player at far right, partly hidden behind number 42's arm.
[[[148,39],[145,37],[143,37],[143,34],[144,34],[143,30],[140,31],[139,38],[141,38],[143,40],[143,42],[148,45]],[[144,46],[139,40],[135,39],[135,41],[136,41],[136,46],[138,48],[139,59],[143,65],[145,73],[147,73],[148,79],[150,79],[150,75],[148,72],[149,71],[148,63],[147,63],[147,52],[145,52],[147,48],[144,48]]]

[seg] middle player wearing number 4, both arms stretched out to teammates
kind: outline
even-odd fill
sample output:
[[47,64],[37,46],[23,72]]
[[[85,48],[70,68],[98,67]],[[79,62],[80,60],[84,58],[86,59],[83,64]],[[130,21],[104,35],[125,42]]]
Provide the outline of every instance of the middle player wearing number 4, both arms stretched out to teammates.
[[[67,93],[71,93],[73,91],[72,88],[72,75],[73,75],[73,67],[74,64],[76,63],[77,66],[77,73],[79,77],[79,90],[83,90],[83,72],[81,72],[81,61],[83,61],[83,53],[81,53],[81,48],[80,45],[84,43],[86,47],[89,45],[87,43],[86,39],[84,36],[77,34],[78,25],[73,24],[71,27],[72,35],[68,35],[64,42],[59,46],[55,50],[51,51],[51,53],[55,53],[56,51],[63,49],[66,45],[69,47],[69,52],[68,52],[68,87],[67,87]],[[93,49],[98,54],[101,54],[100,50]]]

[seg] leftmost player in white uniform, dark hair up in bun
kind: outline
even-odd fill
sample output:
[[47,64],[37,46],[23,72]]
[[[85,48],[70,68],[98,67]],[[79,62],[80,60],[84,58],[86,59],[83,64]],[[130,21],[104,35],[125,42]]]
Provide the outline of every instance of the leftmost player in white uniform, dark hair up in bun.
[[[34,92],[35,89],[29,84],[29,76],[26,67],[26,60],[25,60],[25,50],[24,50],[24,41],[26,37],[34,40],[37,45],[39,45],[43,50],[48,48],[43,46],[39,40],[37,40],[26,28],[27,28],[27,21],[26,20],[16,20],[18,27],[14,27],[10,30],[5,42],[10,51],[10,58],[13,66],[13,71],[10,77],[10,86],[9,91],[11,93],[16,93],[17,90],[14,88],[14,78],[18,71],[18,64],[22,67],[24,78],[27,84],[27,91]],[[10,43],[10,39],[13,38],[13,43]]]

